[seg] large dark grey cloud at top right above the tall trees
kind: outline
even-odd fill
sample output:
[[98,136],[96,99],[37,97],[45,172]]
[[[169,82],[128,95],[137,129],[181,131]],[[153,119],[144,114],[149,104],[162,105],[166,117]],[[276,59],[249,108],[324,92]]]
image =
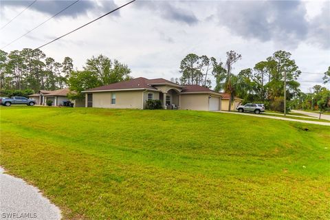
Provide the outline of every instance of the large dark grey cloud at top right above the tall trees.
[[305,14],[300,1],[222,1],[217,6],[219,24],[230,32],[294,47],[307,36]]

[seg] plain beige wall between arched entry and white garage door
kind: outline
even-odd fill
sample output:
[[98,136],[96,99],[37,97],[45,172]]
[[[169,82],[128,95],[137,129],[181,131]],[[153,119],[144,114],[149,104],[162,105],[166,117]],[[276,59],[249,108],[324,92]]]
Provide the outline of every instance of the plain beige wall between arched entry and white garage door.
[[181,94],[180,109],[208,111],[208,94]]

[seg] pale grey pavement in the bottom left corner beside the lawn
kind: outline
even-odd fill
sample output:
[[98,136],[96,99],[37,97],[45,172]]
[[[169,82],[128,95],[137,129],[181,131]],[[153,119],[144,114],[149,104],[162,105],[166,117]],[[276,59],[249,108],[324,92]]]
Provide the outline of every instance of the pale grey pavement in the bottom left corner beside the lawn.
[[61,219],[61,210],[23,179],[3,173],[0,167],[0,219]]

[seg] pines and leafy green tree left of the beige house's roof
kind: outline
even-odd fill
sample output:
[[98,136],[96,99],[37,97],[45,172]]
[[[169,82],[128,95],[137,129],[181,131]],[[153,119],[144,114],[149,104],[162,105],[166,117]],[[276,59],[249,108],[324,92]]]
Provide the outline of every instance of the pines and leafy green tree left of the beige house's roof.
[[81,91],[128,80],[130,73],[127,65],[103,55],[92,56],[83,70],[78,70],[69,57],[59,63],[41,50],[25,48],[9,53],[0,50],[1,96],[28,96],[40,90],[69,87],[76,91],[69,98],[82,99]]

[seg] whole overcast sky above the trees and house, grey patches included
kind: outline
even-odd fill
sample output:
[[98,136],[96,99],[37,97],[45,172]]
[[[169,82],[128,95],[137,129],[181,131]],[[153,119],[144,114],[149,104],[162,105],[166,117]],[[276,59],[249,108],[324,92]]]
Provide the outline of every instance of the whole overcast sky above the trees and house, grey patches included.
[[[37,0],[0,30],[0,47],[73,2]],[[126,2],[80,0],[3,50],[34,49]],[[0,27],[30,3],[1,0]],[[189,53],[224,62],[225,52],[239,52],[238,73],[286,50],[304,72],[299,82],[307,92],[322,85],[321,74],[330,65],[330,1],[137,0],[41,50],[58,62],[73,58],[78,69],[87,58],[104,54],[129,65],[134,77],[166,79],[180,77],[180,61]]]

